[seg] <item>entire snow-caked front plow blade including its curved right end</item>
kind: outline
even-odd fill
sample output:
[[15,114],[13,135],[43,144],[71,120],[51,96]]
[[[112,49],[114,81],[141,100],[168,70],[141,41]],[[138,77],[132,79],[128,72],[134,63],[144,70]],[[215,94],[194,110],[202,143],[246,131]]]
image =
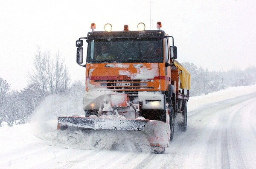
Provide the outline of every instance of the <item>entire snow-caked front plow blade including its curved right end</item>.
[[66,130],[69,126],[91,130],[142,131],[154,153],[164,153],[169,146],[170,127],[163,121],[146,119],[58,117],[57,130]]

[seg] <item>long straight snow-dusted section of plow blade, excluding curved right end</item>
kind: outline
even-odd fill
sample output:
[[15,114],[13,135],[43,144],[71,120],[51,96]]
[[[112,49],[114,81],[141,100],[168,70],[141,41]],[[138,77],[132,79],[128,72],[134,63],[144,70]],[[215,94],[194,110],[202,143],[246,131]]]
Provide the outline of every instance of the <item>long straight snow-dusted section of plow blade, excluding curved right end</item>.
[[93,130],[143,131],[148,121],[119,118],[58,117],[57,129],[60,129],[60,125],[64,125]]

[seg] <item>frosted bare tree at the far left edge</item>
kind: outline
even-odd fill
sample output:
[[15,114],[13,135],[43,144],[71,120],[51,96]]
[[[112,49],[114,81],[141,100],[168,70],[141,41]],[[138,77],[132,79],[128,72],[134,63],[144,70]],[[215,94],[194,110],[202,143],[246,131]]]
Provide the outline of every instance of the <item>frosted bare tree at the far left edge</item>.
[[10,85],[6,80],[0,78],[0,127],[2,126],[5,110],[6,95],[10,90]]

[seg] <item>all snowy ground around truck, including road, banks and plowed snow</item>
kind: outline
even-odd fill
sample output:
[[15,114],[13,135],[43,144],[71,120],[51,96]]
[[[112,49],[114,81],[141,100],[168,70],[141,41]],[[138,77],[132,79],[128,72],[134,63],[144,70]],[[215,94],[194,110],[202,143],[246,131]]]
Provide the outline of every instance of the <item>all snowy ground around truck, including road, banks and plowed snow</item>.
[[[188,129],[165,154],[140,132],[56,131],[57,121],[0,127],[0,168],[246,168],[256,166],[256,85],[188,102]],[[84,138],[87,139],[84,139]]]

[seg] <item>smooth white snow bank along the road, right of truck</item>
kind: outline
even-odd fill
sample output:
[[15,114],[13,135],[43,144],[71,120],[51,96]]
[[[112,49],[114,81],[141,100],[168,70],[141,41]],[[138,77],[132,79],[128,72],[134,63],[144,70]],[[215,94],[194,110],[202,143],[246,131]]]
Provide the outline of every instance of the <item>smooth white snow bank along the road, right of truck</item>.
[[204,104],[231,99],[237,96],[242,96],[254,92],[256,92],[256,85],[227,87],[227,89],[209,93],[205,96],[190,97],[187,103],[188,111],[194,110]]

